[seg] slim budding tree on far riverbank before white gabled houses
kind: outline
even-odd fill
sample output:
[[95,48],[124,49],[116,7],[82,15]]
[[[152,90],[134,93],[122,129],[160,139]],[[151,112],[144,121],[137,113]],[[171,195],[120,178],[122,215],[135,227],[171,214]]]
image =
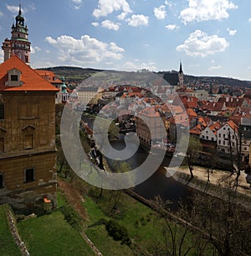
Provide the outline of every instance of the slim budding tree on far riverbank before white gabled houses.
[[197,151],[202,150],[202,144],[200,143],[200,140],[198,138],[190,137],[189,143],[187,147],[187,165],[190,171],[191,178],[193,178],[193,165],[195,162],[195,159],[197,157]]

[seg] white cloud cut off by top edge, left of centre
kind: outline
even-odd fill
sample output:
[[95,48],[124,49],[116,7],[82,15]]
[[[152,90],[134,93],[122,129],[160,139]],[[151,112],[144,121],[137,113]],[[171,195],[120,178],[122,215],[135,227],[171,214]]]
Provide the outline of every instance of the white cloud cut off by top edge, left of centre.
[[99,0],[98,8],[94,9],[92,15],[95,18],[100,18],[120,10],[122,10],[124,18],[127,13],[132,13],[129,3],[125,0]]

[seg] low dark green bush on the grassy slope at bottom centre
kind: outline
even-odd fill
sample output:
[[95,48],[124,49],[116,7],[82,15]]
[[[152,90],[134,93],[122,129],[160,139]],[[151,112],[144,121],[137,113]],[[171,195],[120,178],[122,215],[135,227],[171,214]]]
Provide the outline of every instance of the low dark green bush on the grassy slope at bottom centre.
[[105,229],[115,241],[121,241],[121,244],[125,243],[128,246],[131,245],[131,239],[128,236],[126,227],[110,220],[105,223]]

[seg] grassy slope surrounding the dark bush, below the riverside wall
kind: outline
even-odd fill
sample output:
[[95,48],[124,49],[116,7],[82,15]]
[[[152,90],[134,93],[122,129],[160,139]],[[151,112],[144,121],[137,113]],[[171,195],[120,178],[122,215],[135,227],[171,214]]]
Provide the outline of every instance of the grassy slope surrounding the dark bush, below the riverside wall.
[[[100,218],[106,220],[113,219],[120,225],[127,228],[129,237],[138,248],[141,248],[142,252],[153,253],[153,248],[156,243],[164,244],[164,236],[162,233],[164,222],[156,216],[156,212],[149,207],[144,206],[140,202],[121,194],[120,202],[117,205],[119,212],[108,217],[107,214],[107,202],[110,192],[105,191],[103,198],[98,203],[95,203],[90,197],[85,196],[84,206],[89,215],[89,225],[98,222]],[[171,224],[172,225],[172,224]],[[177,233],[181,232],[182,227],[177,226]],[[131,248],[126,245],[120,245],[119,242],[115,242],[110,238],[105,230],[105,225],[99,225],[95,227],[88,227],[86,229],[88,237],[100,248],[100,251],[104,253],[104,256],[116,255],[132,255]],[[180,235],[177,234],[177,239]],[[185,244],[190,243],[186,241]],[[172,246],[172,243],[170,243]],[[112,254],[112,250],[116,250],[116,253]],[[197,255],[194,251],[187,255]]]

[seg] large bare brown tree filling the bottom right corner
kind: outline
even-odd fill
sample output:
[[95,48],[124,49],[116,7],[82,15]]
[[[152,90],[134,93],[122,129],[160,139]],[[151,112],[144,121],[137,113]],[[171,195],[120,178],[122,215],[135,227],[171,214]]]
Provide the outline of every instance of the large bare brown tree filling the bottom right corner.
[[220,256],[248,255],[251,251],[250,214],[240,204],[235,180],[228,177],[214,190],[215,196],[198,194],[190,221]]

